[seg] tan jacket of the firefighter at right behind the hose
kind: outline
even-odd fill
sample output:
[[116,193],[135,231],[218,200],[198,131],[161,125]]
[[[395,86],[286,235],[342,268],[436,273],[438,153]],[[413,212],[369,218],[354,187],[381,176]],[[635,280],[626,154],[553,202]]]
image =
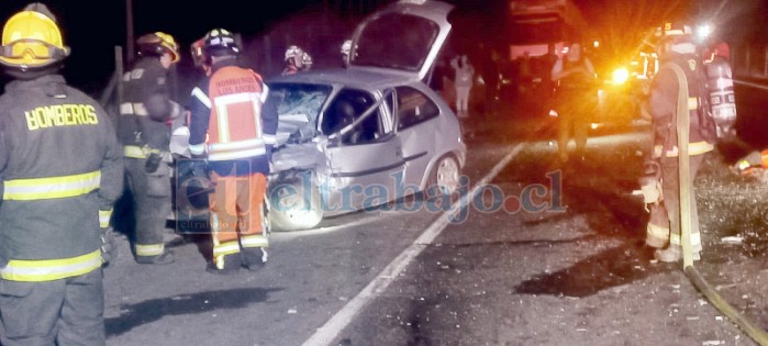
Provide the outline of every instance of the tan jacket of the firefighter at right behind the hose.
[[[701,155],[714,149],[712,139],[714,129],[705,129],[702,124],[703,100],[705,97],[704,80],[701,66],[693,55],[679,55],[665,62],[675,64],[686,74],[688,85],[689,155]],[[677,157],[677,112],[679,81],[675,71],[663,65],[650,85],[649,110],[654,121],[654,157]]]

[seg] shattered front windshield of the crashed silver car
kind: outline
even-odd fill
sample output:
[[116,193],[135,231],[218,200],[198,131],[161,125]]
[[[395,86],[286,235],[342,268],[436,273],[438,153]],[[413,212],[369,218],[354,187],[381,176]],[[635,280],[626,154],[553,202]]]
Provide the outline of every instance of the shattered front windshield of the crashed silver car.
[[298,131],[303,138],[314,136],[318,116],[332,90],[326,85],[271,83],[269,94],[277,103],[281,130]]

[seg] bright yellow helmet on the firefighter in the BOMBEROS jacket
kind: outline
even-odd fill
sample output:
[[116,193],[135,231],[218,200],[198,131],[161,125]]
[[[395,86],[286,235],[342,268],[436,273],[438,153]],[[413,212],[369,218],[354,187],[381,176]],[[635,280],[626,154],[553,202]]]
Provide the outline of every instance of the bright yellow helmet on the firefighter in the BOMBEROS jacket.
[[0,64],[27,70],[60,62],[69,55],[56,21],[35,9],[27,7],[5,22]]

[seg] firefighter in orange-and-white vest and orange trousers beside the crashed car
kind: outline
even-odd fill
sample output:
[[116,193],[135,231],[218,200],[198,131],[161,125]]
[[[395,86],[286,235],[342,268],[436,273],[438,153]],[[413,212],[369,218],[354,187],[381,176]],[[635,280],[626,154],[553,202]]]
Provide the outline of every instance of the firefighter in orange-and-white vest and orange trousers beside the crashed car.
[[267,259],[263,204],[277,108],[266,102],[261,77],[237,66],[241,47],[232,33],[212,30],[204,51],[212,74],[192,90],[189,147],[193,157],[207,158],[215,187],[209,198],[213,256],[207,270],[256,270]]

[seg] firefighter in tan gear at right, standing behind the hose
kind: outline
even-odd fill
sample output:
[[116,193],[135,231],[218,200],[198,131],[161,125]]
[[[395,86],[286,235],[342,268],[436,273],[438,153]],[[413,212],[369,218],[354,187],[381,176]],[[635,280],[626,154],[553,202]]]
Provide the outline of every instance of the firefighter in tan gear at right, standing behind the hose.
[[[703,154],[714,148],[715,129],[708,121],[703,109],[704,79],[690,27],[665,24],[657,49],[661,67],[652,82],[648,105],[654,124],[653,156],[660,167],[661,192],[660,201],[656,203],[658,208],[650,210],[646,244],[657,248],[654,254],[657,260],[675,263],[682,256],[677,116],[684,115],[690,119],[688,183],[691,188],[703,161]],[[677,109],[680,104],[688,109],[687,114],[678,114]],[[693,259],[698,260],[702,250],[701,234],[695,193],[691,192],[690,196],[691,247]]]

